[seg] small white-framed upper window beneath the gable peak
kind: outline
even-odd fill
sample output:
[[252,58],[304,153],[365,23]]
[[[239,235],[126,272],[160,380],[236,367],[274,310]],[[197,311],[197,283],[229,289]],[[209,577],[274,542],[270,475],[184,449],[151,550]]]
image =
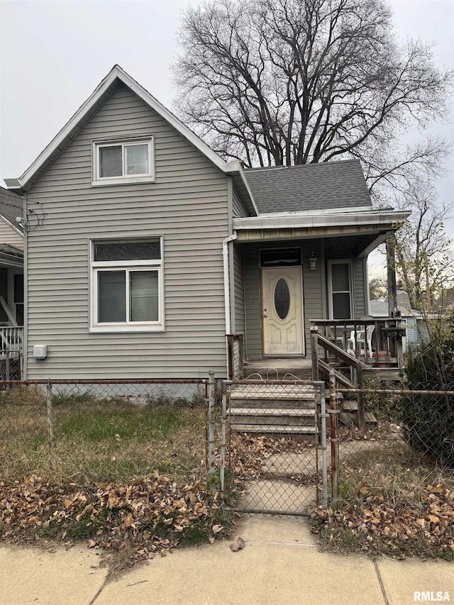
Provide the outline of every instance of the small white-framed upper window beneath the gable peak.
[[93,185],[155,180],[153,136],[93,142]]

